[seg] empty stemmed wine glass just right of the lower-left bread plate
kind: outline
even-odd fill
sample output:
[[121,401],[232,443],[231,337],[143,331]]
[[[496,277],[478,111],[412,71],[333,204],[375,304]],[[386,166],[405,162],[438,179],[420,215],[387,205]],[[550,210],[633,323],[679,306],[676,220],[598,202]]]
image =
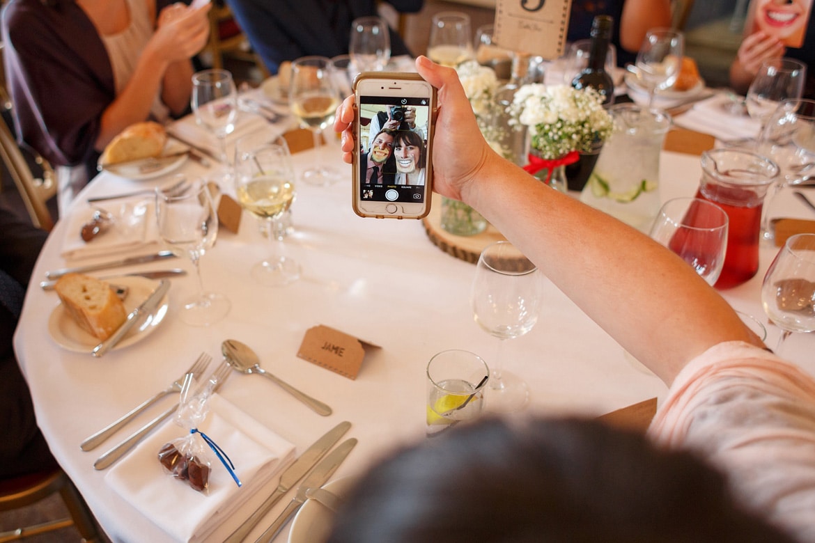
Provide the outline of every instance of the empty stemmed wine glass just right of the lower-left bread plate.
[[231,303],[226,296],[204,289],[200,259],[218,237],[218,213],[209,191],[201,180],[178,194],[156,188],[156,220],[161,239],[186,252],[196,268],[198,293],[183,300],[181,320],[192,326],[209,326],[227,316]]

